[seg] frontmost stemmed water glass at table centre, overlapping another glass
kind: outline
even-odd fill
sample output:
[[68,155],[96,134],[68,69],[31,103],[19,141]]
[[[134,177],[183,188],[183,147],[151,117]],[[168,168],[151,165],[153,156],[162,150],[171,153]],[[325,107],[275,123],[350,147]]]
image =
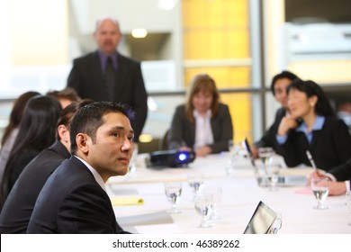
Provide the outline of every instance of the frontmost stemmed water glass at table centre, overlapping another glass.
[[201,222],[197,226],[198,228],[210,228],[213,226],[213,224],[210,222],[213,204],[213,195],[211,193],[201,193],[195,196],[195,210],[201,217]]

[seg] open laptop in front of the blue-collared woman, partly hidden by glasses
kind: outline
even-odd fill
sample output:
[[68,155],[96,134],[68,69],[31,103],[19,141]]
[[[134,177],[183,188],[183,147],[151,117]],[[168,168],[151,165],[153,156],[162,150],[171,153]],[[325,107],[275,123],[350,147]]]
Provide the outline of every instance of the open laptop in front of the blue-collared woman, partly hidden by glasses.
[[[257,178],[257,184],[260,186],[268,186],[264,176],[259,174],[258,167],[255,162],[255,158],[252,154],[248,140],[244,140],[245,148],[247,148],[248,157],[250,158],[251,165],[254,168],[255,176]],[[277,186],[304,186],[308,184],[308,179],[305,175],[280,175],[278,177]]]

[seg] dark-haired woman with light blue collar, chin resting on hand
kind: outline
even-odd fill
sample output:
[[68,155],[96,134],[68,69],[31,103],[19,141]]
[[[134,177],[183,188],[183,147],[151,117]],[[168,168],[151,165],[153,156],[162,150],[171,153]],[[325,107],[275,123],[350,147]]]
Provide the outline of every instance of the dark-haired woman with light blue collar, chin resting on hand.
[[297,80],[287,92],[290,114],[281,121],[276,136],[286,165],[311,166],[307,150],[325,171],[347,162],[351,157],[347,125],[336,117],[320,85]]

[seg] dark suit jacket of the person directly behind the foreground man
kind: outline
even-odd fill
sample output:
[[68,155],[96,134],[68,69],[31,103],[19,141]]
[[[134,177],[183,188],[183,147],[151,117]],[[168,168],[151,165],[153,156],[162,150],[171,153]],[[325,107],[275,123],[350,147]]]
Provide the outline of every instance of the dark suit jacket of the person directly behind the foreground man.
[[56,140],[24,167],[4,203],[0,215],[0,233],[26,233],[31,211],[42,186],[58,165],[69,157],[67,148]]

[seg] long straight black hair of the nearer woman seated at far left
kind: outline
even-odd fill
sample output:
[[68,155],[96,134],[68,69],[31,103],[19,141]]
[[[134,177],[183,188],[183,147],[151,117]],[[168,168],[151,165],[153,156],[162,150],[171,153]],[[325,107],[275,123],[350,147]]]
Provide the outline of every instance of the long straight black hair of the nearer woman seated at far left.
[[61,110],[60,103],[53,97],[38,95],[28,101],[4,169],[0,188],[1,207],[24,166],[55,141],[56,123]]

